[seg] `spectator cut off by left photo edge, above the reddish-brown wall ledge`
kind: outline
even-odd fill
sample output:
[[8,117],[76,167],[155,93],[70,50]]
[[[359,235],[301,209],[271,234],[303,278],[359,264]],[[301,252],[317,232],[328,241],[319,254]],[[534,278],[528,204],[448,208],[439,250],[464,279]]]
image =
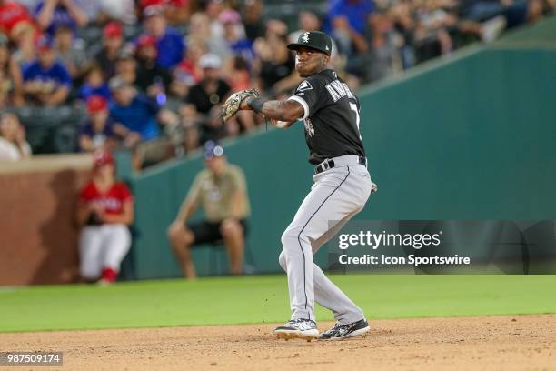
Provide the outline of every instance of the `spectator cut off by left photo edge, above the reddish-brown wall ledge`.
[[10,60],[8,38],[0,34],[0,109],[23,103],[21,69]]

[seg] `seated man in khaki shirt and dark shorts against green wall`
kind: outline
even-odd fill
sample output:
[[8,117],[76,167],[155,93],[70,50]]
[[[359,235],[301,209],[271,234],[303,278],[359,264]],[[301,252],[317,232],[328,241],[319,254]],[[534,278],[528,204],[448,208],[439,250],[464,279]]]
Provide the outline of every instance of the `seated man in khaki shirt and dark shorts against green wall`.
[[[204,145],[204,159],[206,168],[195,176],[174,223],[168,227],[168,238],[185,278],[196,276],[191,248],[219,241],[228,251],[232,274],[241,275],[250,214],[245,175],[228,163],[223,147],[212,141]],[[199,206],[204,209],[204,220],[189,224]]]

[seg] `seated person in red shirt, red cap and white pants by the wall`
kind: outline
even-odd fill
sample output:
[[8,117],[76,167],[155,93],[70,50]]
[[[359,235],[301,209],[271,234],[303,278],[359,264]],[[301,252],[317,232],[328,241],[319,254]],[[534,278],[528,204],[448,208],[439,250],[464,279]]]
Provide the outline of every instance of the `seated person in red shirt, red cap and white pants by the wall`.
[[114,157],[94,153],[91,181],[84,186],[77,206],[77,223],[83,226],[79,239],[80,273],[87,281],[111,284],[131,247],[128,226],[134,220],[134,198],[114,176]]

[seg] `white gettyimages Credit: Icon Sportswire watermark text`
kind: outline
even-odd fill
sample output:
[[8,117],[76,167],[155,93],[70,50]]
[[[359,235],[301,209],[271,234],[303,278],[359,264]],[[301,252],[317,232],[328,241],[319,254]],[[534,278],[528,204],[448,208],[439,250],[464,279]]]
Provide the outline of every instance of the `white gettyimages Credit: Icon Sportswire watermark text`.
[[[412,249],[421,252],[426,248],[440,247],[442,244],[443,232],[437,233],[389,233],[382,230],[380,233],[373,233],[370,230],[358,231],[357,233],[344,233],[338,236],[338,248],[342,253],[338,256],[338,263],[341,265],[363,265],[363,266],[454,266],[470,265],[469,256],[426,255],[422,254],[393,254],[394,251],[380,251],[386,247],[402,249]],[[360,254],[359,256],[349,256],[348,249],[357,246],[359,253],[361,248],[365,251],[372,250],[373,254]],[[437,250],[437,249],[435,249]]]

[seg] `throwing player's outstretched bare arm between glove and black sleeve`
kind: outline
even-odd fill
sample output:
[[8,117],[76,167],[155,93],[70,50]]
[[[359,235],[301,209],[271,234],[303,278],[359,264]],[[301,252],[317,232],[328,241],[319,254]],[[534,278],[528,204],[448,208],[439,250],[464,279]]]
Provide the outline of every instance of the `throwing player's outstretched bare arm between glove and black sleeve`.
[[[286,126],[292,125],[297,119],[303,117],[305,110],[303,105],[293,100],[270,100],[262,98],[248,98],[240,105],[242,110],[253,110],[273,120],[283,121]],[[273,124],[276,124],[273,121]]]

